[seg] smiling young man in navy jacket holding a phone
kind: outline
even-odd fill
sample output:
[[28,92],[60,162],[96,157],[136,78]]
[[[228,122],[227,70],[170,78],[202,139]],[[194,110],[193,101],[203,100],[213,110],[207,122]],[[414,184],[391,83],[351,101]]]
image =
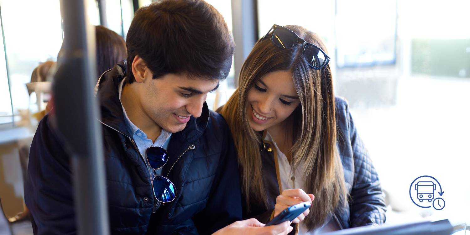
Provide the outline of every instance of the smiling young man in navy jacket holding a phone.
[[[210,234],[241,219],[231,134],[205,103],[231,66],[224,19],[204,1],[159,1],[136,12],[126,46],[97,84],[111,233]],[[25,201],[35,234],[75,234],[70,157],[50,120],[31,145]]]

